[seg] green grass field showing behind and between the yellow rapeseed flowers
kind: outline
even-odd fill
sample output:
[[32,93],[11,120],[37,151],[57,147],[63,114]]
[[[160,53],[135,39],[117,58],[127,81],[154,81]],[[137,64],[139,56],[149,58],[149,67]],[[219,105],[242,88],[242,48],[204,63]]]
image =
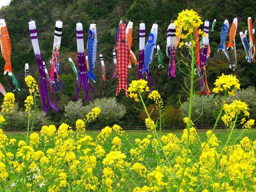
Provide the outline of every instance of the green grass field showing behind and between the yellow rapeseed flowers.
[[[183,130],[168,130],[168,131],[162,132],[161,134],[166,135],[168,133],[173,133],[173,134],[176,134],[178,138],[181,138],[182,131]],[[199,139],[197,139],[197,142],[195,144],[193,144],[193,146],[191,146],[192,154],[197,153],[197,151],[199,150],[199,148],[201,146],[199,142],[204,142],[207,139],[207,136],[206,136],[207,131],[208,130],[206,130],[206,129],[199,129],[198,130],[198,137],[200,138],[200,141],[199,141]],[[239,137],[241,132],[242,132],[241,129],[238,129],[238,130],[234,131],[233,137],[230,140],[230,144],[232,144]],[[94,139],[97,137],[98,133],[100,133],[100,132],[99,131],[88,131],[87,132],[87,134],[90,135]],[[17,143],[18,143],[19,140],[26,140],[26,133],[25,132],[23,132],[23,133],[21,133],[21,132],[5,132],[5,134],[7,135],[7,137],[9,139],[15,138],[17,140],[15,146],[12,148],[12,151],[11,151],[12,153],[16,153],[16,151],[18,149],[18,146],[17,146],[18,144]],[[149,134],[149,132],[146,131],[146,130],[136,130],[136,131],[129,130],[129,131],[126,131],[127,138],[129,139],[129,142],[132,145],[135,145],[134,140],[136,138],[143,139],[148,134]],[[217,130],[215,130],[215,135],[220,140],[219,148],[222,148],[222,146],[225,144],[226,140],[228,139],[228,135],[229,135],[228,131],[225,130],[225,129],[217,129]],[[107,139],[107,141],[103,144],[103,148],[105,149],[106,154],[111,150],[112,139],[116,136],[117,136],[116,133],[111,134],[110,137]],[[249,139],[252,140],[252,141],[256,140],[256,130],[255,129],[247,130],[244,133],[244,135],[240,139],[238,139],[237,143],[240,142],[240,140],[243,137],[246,137],[246,136],[249,137]],[[132,162],[132,158],[131,158],[130,153],[129,153],[129,150],[132,147],[130,146],[129,142],[125,138],[123,138],[123,137],[120,137],[120,138],[122,139],[122,142],[123,142],[121,150],[124,154],[127,155],[127,157],[125,158],[125,161]],[[43,144],[42,143],[43,142],[41,142],[41,144],[38,146],[38,148],[34,148],[34,150],[43,150]],[[46,150],[48,148],[53,148],[53,147],[54,147],[54,143],[48,143],[48,145],[46,146]],[[152,148],[151,145],[149,145],[148,149],[146,149],[146,151],[144,153],[144,159],[150,167],[156,167],[157,166],[156,165],[157,161],[155,160],[156,156],[155,156],[155,153],[153,152],[153,148]],[[95,170],[95,175],[97,175],[99,180],[101,179],[103,169],[104,169],[104,166],[102,164],[102,160],[97,160],[97,169]],[[130,175],[129,172],[128,172],[128,175],[132,177],[131,178],[132,180],[136,181],[138,186],[143,186],[143,185],[146,184],[146,183],[144,183],[145,181],[142,177],[139,177],[136,174],[135,175]],[[135,187],[132,182],[130,183],[130,187],[131,188]]]

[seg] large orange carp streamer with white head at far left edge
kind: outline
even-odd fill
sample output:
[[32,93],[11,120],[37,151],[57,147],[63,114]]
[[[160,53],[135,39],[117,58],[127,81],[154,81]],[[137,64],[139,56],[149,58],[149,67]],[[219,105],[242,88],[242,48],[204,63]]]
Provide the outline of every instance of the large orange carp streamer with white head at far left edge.
[[9,33],[7,31],[6,23],[4,19],[0,19],[0,44],[1,44],[1,51],[2,57],[5,60],[4,66],[4,75],[8,71],[8,75],[12,75],[11,69],[11,41],[9,37]]

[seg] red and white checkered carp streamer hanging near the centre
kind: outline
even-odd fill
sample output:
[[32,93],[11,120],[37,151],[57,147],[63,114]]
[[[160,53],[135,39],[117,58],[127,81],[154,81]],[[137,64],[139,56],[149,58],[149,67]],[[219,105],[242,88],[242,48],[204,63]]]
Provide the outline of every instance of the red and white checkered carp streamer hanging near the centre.
[[121,89],[124,89],[126,96],[127,92],[127,76],[128,76],[128,63],[130,58],[130,52],[126,36],[126,24],[120,24],[120,31],[118,35],[117,45],[114,47],[117,49],[117,74],[118,74],[118,85],[116,95],[119,94]]

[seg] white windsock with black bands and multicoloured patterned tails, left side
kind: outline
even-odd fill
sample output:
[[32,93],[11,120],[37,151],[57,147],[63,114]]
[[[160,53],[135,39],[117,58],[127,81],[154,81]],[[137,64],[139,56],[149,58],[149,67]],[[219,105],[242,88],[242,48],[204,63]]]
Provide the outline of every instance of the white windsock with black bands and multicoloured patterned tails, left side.
[[61,36],[62,36],[62,26],[63,26],[63,23],[61,21],[55,22],[54,39],[53,39],[53,53],[52,53],[52,59],[50,61],[50,64],[51,64],[50,80],[51,80],[52,85],[55,88],[55,90],[57,90],[59,92],[61,92],[61,90],[63,89],[62,81],[59,78],[60,43],[61,43]]

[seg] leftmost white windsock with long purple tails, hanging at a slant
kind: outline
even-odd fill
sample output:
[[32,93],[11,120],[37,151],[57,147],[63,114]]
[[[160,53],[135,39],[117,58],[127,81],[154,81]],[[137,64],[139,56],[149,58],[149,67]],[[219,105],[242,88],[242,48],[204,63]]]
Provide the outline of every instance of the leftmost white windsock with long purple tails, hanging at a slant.
[[[38,66],[39,75],[40,75],[39,86],[40,86],[40,96],[41,96],[41,100],[43,103],[43,109],[45,112],[48,113],[49,106],[51,106],[54,109],[54,111],[58,111],[56,95],[55,95],[54,89],[52,87],[52,84],[50,83],[50,80],[47,77],[46,71],[44,69],[43,60],[42,60],[42,57],[40,54],[40,49],[39,49],[39,44],[38,44],[38,39],[37,39],[38,37],[37,37],[36,22],[30,21],[28,23],[28,27],[29,27],[31,42],[33,45],[34,54],[36,57],[37,66]],[[52,90],[52,93],[54,96],[54,104],[52,102],[50,102],[50,97],[49,97],[49,93],[48,93],[48,89],[47,89],[48,85],[49,85],[50,89]],[[47,102],[45,101],[45,99]]]

